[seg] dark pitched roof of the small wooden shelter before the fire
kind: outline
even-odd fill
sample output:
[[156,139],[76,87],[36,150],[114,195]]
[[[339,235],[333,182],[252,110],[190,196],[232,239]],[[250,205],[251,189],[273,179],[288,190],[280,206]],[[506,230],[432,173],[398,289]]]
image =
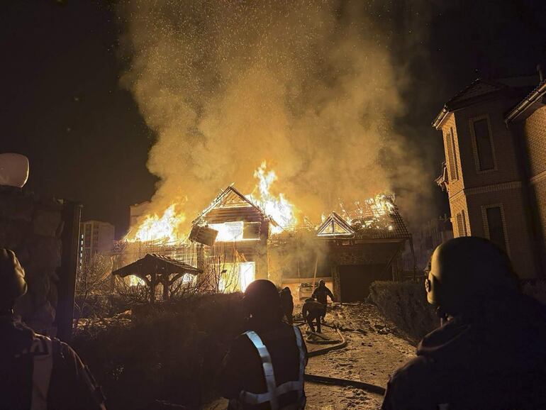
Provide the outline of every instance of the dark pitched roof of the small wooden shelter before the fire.
[[128,275],[145,276],[152,273],[192,273],[194,275],[203,271],[188,265],[172,257],[157,255],[156,253],[147,253],[145,257],[130,263],[127,266],[114,270],[112,275],[126,277]]

